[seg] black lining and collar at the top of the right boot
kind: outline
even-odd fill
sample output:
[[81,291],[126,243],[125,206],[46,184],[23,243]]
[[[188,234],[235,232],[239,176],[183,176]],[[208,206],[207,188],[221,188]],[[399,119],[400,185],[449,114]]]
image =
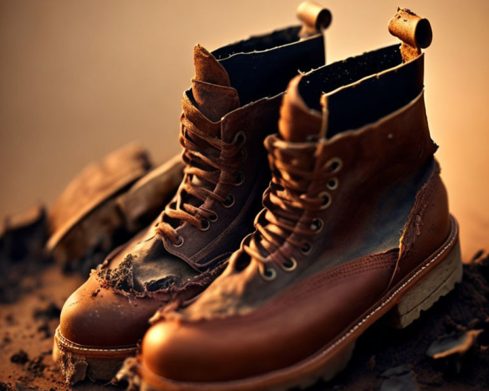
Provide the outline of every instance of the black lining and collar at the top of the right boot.
[[[420,56],[381,76],[369,77],[329,95],[327,137],[373,123],[416,98],[423,88],[422,60]],[[303,77],[299,92],[311,109],[321,110],[322,93],[401,64],[400,45],[384,47],[316,69]]]

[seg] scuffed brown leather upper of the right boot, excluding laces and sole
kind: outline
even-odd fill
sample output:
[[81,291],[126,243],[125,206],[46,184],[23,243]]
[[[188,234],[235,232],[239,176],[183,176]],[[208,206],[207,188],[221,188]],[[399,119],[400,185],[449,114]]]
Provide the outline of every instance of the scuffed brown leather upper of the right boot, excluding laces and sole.
[[[385,50],[397,53],[401,61],[399,49]],[[363,63],[361,56],[360,61],[353,61],[354,66]],[[342,66],[329,65],[319,73],[327,75],[329,67],[337,67],[349,74],[348,65]],[[387,62],[384,66],[394,65]],[[439,184],[430,184],[439,180],[433,161],[437,146],[426,120],[422,56],[378,71],[334,92],[319,82],[307,84],[316,76],[314,72],[309,79],[304,76],[299,86],[291,84],[290,88],[299,88],[302,97],[311,89],[311,96],[315,94],[318,101],[319,91],[326,92],[328,119],[332,121],[328,138],[287,142],[271,135],[265,144],[274,175],[282,175],[274,167],[278,161],[309,169],[312,177],[321,178],[311,180],[307,197],[318,197],[329,179],[337,179],[337,188],[330,190],[331,206],[314,215],[304,210],[298,218],[297,226],[306,229],[312,217],[320,217],[323,229],[311,240],[307,254],[291,244],[303,240],[300,233],[294,231],[288,238],[293,240],[283,241],[281,253],[297,260],[292,272],[274,263],[274,253],[263,261],[243,249],[235,252],[223,274],[194,302],[178,311],[161,312],[163,320],[143,340],[142,360],[148,369],[174,380],[209,382],[242,379],[297,363],[334,341],[376,304],[392,283],[398,264],[400,270],[410,272],[423,261],[420,257],[427,257],[430,249],[443,243],[446,194]],[[364,77],[361,71],[357,76]],[[405,76],[408,80],[401,80]],[[327,87],[338,88],[337,83],[348,77],[333,79]],[[399,93],[399,86],[405,90]],[[361,96],[363,100],[368,97],[366,106],[372,109],[360,107],[358,116],[350,113],[353,120],[341,120],[341,116],[334,117],[338,113],[330,111],[335,99],[344,98],[353,103],[346,108],[356,113]],[[393,103],[387,103],[389,99]],[[284,104],[289,101],[285,99]],[[345,113],[346,108],[342,109]],[[287,111],[283,106],[282,115]],[[289,120],[318,124],[317,114],[309,114],[311,121],[308,115],[290,115]],[[357,128],[350,130],[352,124]],[[287,125],[285,133],[289,134]],[[341,159],[340,169],[329,176],[320,174],[336,157]],[[428,188],[434,189],[433,198],[424,195]],[[401,246],[402,233],[410,232],[412,216],[420,215],[421,210],[426,210],[422,213],[426,222],[415,227],[426,229],[418,241],[419,251],[413,251],[413,242],[406,253]],[[276,270],[273,281],[262,278],[261,262]],[[205,360],[201,360],[203,356]]]

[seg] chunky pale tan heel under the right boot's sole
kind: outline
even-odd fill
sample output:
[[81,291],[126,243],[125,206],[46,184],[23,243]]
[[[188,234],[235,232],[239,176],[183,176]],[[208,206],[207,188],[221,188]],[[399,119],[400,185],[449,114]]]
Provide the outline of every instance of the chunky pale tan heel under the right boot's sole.
[[418,319],[421,311],[430,308],[450,292],[457,282],[462,281],[462,271],[460,242],[457,240],[446,258],[408,291],[387,314],[388,324],[404,328]]

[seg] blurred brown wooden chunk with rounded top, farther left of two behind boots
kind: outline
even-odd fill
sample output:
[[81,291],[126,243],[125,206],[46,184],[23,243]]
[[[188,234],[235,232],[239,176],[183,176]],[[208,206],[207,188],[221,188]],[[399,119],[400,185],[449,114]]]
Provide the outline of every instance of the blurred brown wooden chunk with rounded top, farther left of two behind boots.
[[115,197],[151,168],[148,153],[128,144],[91,163],[68,184],[49,212],[47,248],[63,266],[75,266],[95,248],[107,252],[124,226]]

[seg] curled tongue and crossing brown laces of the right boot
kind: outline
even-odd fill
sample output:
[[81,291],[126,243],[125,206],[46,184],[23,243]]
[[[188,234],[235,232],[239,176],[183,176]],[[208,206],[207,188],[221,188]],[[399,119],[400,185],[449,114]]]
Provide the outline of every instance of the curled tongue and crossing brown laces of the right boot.
[[[320,202],[305,195],[315,164],[315,146],[307,142],[320,135],[323,119],[321,113],[304,103],[299,82],[300,76],[290,81],[282,101],[279,137],[268,136],[265,142],[272,182],[264,195],[266,209],[255,220],[257,232],[245,244],[248,254],[262,260],[279,249],[284,241],[300,246],[300,243],[292,243],[290,234],[310,235],[310,230],[298,227],[297,221],[305,209],[315,209]],[[287,258],[284,254],[281,257]]]

